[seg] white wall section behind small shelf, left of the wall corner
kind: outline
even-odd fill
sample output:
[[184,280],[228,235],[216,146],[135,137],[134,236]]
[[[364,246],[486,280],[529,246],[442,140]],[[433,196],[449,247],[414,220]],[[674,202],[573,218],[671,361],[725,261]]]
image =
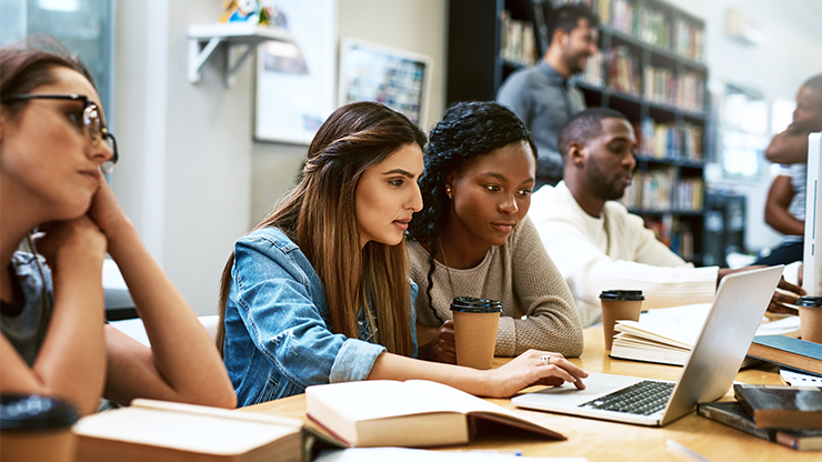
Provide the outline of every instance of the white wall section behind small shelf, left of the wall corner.
[[218,53],[188,81],[192,23],[222,1],[119,2],[114,189],[150,250],[199,314],[215,312],[222,267],[247,231],[251,204],[249,67],[227,89]]

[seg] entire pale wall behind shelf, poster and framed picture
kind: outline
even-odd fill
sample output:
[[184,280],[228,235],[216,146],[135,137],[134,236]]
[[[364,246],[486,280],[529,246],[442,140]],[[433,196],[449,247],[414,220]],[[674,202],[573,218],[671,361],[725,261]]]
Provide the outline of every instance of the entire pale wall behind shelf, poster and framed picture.
[[[221,0],[121,1],[116,9],[114,116],[122,153],[113,182],[126,212],[198,314],[213,314],[220,274],[295,178],[305,147],[252,141],[253,76],[222,83],[217,53],[188,81],[189,24],[215,22]],[[431,109],[444,106],[448,2],[338,0],[338,30],[433,58]]]

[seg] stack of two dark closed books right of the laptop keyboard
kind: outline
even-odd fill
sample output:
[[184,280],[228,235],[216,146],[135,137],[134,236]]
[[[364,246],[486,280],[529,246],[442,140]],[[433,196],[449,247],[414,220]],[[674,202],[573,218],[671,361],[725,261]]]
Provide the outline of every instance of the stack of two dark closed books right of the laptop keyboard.
[[798,451],[822,450],[822,389],[734,384],[736,401],[700,403],[698,413]]

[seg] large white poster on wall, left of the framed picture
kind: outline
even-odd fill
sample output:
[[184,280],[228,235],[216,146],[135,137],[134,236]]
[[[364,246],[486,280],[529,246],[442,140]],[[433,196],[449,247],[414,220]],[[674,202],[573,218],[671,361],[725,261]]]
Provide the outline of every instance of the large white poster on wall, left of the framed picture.
[[334,110],[335,0],[277,0],[272,24],[293,43],[263,42],[257,53],[254,138],[308,144]]

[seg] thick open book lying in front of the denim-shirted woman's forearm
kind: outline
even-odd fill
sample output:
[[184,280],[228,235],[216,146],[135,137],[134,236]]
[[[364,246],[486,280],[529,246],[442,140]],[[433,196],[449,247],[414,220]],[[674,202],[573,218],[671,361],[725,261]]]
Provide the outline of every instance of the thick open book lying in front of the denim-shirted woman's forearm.
[[565,438],[541,423],[454,388],[424,380],[375,380],[305,389],[308,416],[349,446],[468,444],[482,422]]

